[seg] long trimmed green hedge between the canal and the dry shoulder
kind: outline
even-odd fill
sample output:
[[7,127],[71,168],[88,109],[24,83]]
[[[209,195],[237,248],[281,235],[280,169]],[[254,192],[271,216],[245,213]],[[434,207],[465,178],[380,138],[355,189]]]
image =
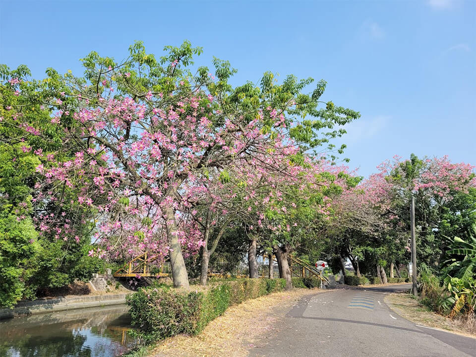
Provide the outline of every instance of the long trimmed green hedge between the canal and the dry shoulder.
[[127,303],[132,325],[147,343],[181,333],[197,334],[229,306],[285,287],[284,279],[239,279],[192,292],[148,287],[127,296]]

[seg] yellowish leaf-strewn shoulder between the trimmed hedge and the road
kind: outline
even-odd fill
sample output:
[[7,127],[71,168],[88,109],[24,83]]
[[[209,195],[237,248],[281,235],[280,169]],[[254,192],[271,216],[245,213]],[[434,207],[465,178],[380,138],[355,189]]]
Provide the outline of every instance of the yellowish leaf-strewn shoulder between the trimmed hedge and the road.
[[[332,291],[332,290],[330,290]],[[149,357],[242,357],[262,334],[269,333],[302,297],[325,293],[296,289],[247,300],[230,307],[197,336],[174,336],[148,352]]]

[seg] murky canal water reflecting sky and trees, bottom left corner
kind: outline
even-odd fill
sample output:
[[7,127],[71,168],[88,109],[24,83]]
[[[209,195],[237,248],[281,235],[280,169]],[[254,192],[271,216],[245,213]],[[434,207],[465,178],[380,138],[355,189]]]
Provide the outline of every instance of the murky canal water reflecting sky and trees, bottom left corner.
[[0,357],[114,357],[135,341],[126,305],[18,317],[0,322]]

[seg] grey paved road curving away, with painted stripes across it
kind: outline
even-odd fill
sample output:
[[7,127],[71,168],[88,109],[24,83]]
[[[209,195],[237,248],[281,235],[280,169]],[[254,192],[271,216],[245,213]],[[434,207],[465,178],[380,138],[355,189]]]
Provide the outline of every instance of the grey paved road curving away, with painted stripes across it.
[[336,290],[301,300],[277,334],[255,344],[249,356],[476,356],[476,339],[418,327],[384,302],[410,284]]

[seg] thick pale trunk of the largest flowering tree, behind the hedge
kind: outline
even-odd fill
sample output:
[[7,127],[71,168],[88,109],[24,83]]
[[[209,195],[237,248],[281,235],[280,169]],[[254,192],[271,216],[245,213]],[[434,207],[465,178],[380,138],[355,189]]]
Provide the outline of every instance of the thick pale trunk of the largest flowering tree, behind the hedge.
[[169,258],[170,266],[172,268],[172,279],[175,288],[189,288],[188,273],[183,260],[182,251],[180,248],[179,239],[177,238],[177,226],[175,224],[175,217],[172,208],[165,209],[167,217],[167,239],[169,241]]

